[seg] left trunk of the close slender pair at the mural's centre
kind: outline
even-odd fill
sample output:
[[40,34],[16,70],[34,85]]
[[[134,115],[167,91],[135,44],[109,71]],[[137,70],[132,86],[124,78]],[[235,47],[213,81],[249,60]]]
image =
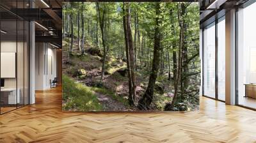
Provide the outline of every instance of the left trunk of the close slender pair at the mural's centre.
[[126,51],[126,63],[127,63],[127,75],[128,75],[128,82],[129,82],[129,105],[134,105],[134,100],[132,96],[132,80],[131,80],[131,67],[130,67],[130,56],[129,56],[129,39],[127,33],[127,17],[125,16],[126,11],[126,3],[123,3],[123,24],[124,24],[124,37],[125,37],[125,51]]

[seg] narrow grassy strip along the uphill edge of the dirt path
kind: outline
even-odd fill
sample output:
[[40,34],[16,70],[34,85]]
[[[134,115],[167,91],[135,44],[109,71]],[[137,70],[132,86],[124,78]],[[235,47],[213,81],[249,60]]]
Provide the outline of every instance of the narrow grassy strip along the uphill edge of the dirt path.
[[113,98],[114,100],[124,103],[124,105],[126,107],[129,107],[128,100],[124,96],[119,96],[115,92],[110,91],[109,89],[106,89],[105,87],[90,87],[90,88],[92,89],[92,91],[94,91],[96,93],[107,94],[108,96],[111,96],[111,98]]

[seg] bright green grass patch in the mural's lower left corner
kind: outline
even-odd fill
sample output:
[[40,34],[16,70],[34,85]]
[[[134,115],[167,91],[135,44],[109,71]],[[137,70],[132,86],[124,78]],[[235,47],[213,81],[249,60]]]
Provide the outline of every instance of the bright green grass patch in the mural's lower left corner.
[[63,110],[99,111],[102,105],[90,87],[74,82],[63,75]]

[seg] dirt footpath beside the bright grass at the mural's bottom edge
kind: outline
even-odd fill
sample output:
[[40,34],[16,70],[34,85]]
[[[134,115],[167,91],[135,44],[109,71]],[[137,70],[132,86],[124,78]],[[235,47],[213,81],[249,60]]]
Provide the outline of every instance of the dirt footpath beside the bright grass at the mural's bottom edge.
[[127,110],[123,103],[120,103],[106,94],[95,93],[104,111],[124,111]]

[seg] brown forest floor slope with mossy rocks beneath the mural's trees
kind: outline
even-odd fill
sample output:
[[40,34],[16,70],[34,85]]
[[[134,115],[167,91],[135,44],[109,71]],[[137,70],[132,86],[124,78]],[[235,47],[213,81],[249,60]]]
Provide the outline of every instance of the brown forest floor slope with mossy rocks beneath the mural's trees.
[[[77,43],[75,43],[74,47],[77,47]],[[71,56],[68,56],[68,45],[66,41],[63,41],[63,75],[67,75],[67,77],[74,80],[74,82],[82,84],[87,89],[90,89],[93,95],[97,97],[97,101],[99,102],[97,104],[101,106],[99,110],[138,110],[136,106],[131,107],[128,103],[128,79],[124,72],[126,62],[119,57],[114,57],[109,54],[106,60],[104,80],[100,82],[102,58],[99,53],[88,50],[95,49],[95,47],[85,45],[85,49],[86,53],[83,56],[78,48],[74,48]],[[136,72],[135,105],[147,88],[148,75],[149,74],[147,73],[139,72],[139,70]],[[157,86],[151,110],[163,110],[163,105],[172,100],[172,83],[163,77],[158,79],[161,80],[161,82],[157,82],[157,85],[159,86]],[[65,110],[81,110],[79,107],[74,107],[73,105],[67,107],[69,105],[67,103],[68,101],[70,100],[63,99],[63,105],[66,106]]]

